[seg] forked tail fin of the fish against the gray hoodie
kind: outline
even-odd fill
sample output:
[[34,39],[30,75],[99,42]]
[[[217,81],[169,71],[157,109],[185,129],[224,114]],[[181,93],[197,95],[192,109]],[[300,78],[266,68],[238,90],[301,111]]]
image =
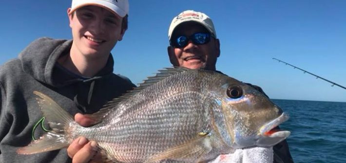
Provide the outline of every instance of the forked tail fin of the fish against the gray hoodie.
[[69,123],[74,122],[71,114],[62,109],[55,101],[47,95],[34,91],[38,95],[38,106],[43,112],[44,117],[48,120],[52,131],[43,135],[39,140],[32,142],[30,145],[24,146],[17,150],[19,154],[34,154],[46,152],[67,147],[70,142],[65,137],[64,128]]

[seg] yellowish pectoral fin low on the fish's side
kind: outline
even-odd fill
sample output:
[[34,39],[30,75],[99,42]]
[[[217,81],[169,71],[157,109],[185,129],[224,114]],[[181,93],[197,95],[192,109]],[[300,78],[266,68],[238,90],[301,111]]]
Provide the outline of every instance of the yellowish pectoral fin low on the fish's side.
[[200,162],[199,158],[209,153],[211,149],[210,136],[208,134],[203,136],[199,134],[196,139],[158,153],[150,157],[145,163],[154,163],[165,159],[197,163]]

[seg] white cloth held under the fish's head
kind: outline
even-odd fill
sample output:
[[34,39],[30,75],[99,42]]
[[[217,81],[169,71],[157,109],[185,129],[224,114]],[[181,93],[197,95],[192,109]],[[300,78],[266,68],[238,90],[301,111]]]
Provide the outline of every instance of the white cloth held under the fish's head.
[[209,163],[273,163],[273,159],[273,147],[252,147],[220,155]]

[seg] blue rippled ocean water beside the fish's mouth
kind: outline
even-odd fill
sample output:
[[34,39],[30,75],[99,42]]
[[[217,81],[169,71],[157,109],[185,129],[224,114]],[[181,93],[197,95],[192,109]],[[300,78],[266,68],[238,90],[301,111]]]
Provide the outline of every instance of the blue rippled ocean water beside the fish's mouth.
[[272,101],[290,116],[280,128],[295,163],[346,163],[346,103]]

